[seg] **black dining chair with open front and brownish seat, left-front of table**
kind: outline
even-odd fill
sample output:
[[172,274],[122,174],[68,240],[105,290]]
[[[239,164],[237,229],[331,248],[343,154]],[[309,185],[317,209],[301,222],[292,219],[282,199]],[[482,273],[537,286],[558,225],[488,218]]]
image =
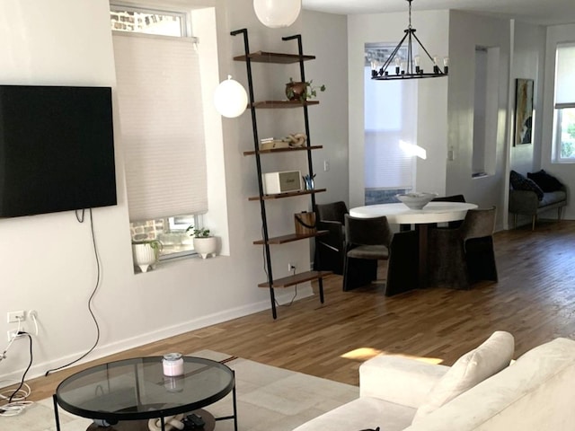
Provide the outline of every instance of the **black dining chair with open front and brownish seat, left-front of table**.
[[345,216],[343,290],[366,286],[377,278],[377,261],[389,259],[393,234],[386,216]]

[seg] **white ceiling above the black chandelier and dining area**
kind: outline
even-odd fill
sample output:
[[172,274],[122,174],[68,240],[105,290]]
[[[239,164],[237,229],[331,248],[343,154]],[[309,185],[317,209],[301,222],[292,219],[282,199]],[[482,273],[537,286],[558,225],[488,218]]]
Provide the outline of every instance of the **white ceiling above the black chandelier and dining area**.
[[[407,12],[406,0],[302,0],[304,9],[357,14]],[[542,25],[575,22],[574,0],[413,0],[413,12],[456,9]],[[413,24],[417,14],[413,14]]]

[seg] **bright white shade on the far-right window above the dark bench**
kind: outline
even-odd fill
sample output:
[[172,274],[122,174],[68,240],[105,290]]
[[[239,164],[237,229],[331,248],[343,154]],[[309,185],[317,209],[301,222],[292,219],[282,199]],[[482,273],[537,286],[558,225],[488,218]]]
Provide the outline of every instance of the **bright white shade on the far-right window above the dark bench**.
[[575,44],[557,46],[555,109],[575,108]]

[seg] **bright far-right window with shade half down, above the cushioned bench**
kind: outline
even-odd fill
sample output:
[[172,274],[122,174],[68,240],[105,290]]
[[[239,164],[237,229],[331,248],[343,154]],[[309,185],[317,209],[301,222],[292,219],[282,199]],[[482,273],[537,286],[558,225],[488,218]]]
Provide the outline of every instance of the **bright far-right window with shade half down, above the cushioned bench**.
[[575,163],[575,43],[559,44],[555,55],[553,159]]

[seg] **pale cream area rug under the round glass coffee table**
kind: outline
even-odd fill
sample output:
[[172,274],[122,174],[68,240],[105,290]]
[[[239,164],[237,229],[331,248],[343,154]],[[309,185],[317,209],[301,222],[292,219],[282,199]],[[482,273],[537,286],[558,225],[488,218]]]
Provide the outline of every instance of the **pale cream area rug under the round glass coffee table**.
[[[230,355],[201,350],[190,356],[225,361]],[[355,400],[359,388],[296,373],[243,358],[226,362],[235,371],[239,431],[291,431],[308,420]],[[206,407],[216,417],[228,416],[231,393]],[[59,409],[62,431],[85,431],[90,419]],[[55,431],[52,399],[41,400],[15,417],[0,418],[3,431]],[[105,430],[106,428],[102,428]],[[216,431],[233,431],[234,421],[218,421]]]

